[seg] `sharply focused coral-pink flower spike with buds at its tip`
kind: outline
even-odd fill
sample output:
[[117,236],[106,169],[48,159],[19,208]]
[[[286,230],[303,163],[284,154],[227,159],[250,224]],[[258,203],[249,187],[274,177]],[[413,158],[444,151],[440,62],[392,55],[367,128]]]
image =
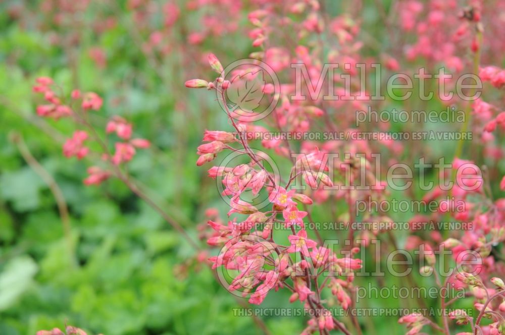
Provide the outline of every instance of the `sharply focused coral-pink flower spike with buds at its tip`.
[[[222,73],[223,68],[215,55],[209,55],[209,63],[217,73]],[[220,76],[214,82],[190,80],[186,86],[215,89],[225,100],[224,82]],[[338,257],[333,250],[322,245],[317,232],[318,242],[310,238],[304,222],[308,211],[301,210],[300,206],[310,205],[313,200],[306,194],[289,190],[290,183],[297,176],[303,176],[309,186],[316,186],[318,180],[331,185],[326,174],[313,172],[315,166],[324,165],[322,153],[314,148],[308,155],[298,157],[286,185],[281,186],[282,178],[269,171],[265,167],[265,157],[248,144],[247,129],[254,126],[235,122],[230,111],[226,111],[234,132],[206,131],[204,141],[208,143],[198,147],[197,154],[200,156],[196,164],[210,162],[218,153],[226,150],[248,157],[249,163],[213,166],[209,170],[210,177],[222,182],[222,195],[229,198],[228,216],[247,216],[235,217],[225,225],[213,213],[213,219],[208,221],[213,233],[207,236],[207,243],[222,248],[218,256],[211,257],[213,267],[237,271],[228,290],[240,290],[242,296],[249,296],[251,304],[261,304],[272,289],[290,290],[290,302],[298,300],[307,308],[317,310],[314,318],[309,321],[306,333],[333,328],[347,331],[322,307],[321,294],[328,288],[343,308],[350,307],[351,301],[346,291],[352,291],[353,271],[362,266],[361,260],[353,257],[359,248],[353,248],[344,256]],[[253,203],[242,199],[248,191],[252,195],[260,192],[268,194],[267,205],[257,208]],[[277,228],[279,222],[281,227]],[[284,243],[276,236],[278,229],[291,231]],[[324,281],[320,279],[323,273],[328,276]]]

